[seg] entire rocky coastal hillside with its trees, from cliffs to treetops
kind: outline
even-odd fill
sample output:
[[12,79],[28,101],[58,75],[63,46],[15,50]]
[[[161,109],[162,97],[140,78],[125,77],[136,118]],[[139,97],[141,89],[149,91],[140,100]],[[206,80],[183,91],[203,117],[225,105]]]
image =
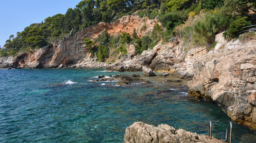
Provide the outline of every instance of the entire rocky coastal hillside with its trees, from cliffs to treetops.
[[255,0],[83,0],[64,15],[11,35],[0,49],[0,68],[149,67],[192,79],[190,96],[214,101],[233,121],[255,128],[256,36],[240,35],[252,24],[246,14],[255,5]]

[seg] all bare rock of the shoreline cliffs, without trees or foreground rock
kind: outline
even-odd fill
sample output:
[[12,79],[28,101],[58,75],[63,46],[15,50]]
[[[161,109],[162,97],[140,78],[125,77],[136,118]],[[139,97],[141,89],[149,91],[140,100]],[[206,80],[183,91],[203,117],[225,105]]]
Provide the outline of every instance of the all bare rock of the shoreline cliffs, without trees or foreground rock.
[[[207,53],[205,47],[184,52],[182,41],[157,44],[154,49],[133,56],[131,45],[126,45],[127,56],[116,63],[99,63],[90,58],[84,47],[84,37],[96,38],[103,30],[111,35],[120,31],[132,33],[134,27],[146,24],[153,27],[155,20],[142,22],[139,16],[124,16],[113,24],[99,23],[74,37],[65,37],[40,50],[19,53],[17,56],[1,57],[0,68],[107,68],[115,71],[142,71],[148,67],[153,71],[168,72],[181,78],[192,79],[189,96],[206,98],[217,103],[230,118],[243,125],[256,128],[256,41],[230,41],[224,49]],[[119,28],[117,28],[119,27]],[[121,28],[120,28],[121,27]],[[148,28],[139,36],[151,32]]]

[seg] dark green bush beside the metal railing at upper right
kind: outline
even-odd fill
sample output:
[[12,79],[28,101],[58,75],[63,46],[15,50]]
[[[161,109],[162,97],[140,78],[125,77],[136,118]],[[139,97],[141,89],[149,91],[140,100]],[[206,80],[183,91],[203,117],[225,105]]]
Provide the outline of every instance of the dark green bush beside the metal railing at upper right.
[[231,40],[233,38],[237,38],[245,26],[251,25],[249,22],[246,21],[247,17],[238,16],[234,21],[230,23],[228,30],[223,32],[223,36],[225,40]]

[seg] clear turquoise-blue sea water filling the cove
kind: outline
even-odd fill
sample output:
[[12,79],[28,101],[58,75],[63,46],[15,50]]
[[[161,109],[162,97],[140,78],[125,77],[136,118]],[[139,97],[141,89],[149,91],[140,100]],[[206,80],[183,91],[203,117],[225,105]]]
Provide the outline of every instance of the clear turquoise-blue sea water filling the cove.
[[[216,104],[187,97],[186,83],[144,77],[154,84],[91,82],[103,69],[0,70],[0,142],[122,142],[136,121],[224,139],[230,118]],[[133,74],[142,72],[125,72]],[[233,142],[254,142],[255,131],[233,123]]]

